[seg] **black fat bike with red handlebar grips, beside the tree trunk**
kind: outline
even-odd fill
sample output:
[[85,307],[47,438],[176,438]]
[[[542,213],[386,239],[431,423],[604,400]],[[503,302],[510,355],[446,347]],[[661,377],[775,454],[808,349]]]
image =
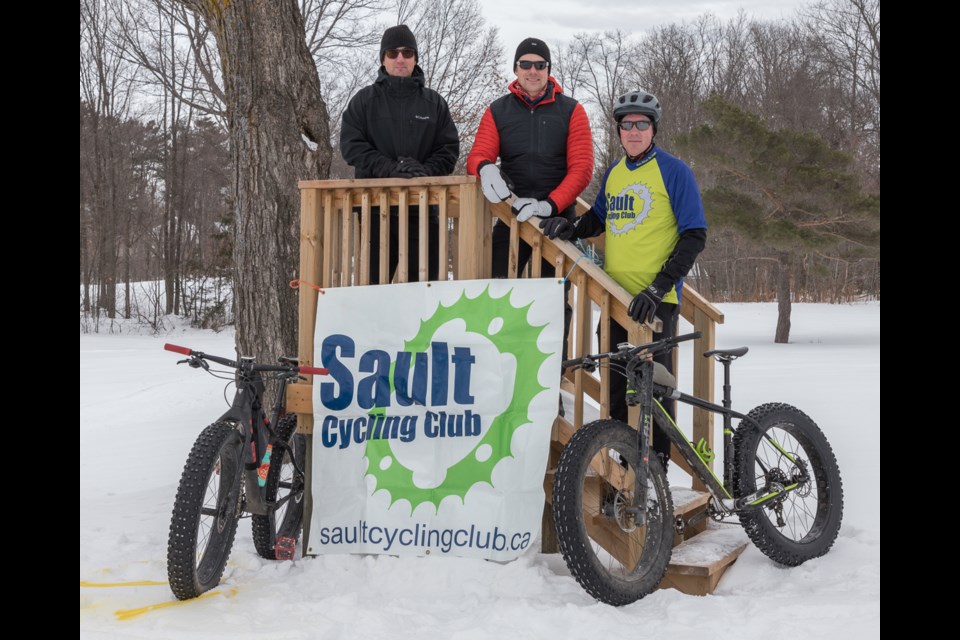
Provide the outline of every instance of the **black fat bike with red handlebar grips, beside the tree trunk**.
[[[187,356],[178,364],[214,375],[226,372],[212,371],[210,363],[235,370],[225,376],[236,384],[233,403],[194,442],[173,505],[167,576],[173,594],[187,600],[220,583],[244,514],[252,518],[258,554],[293,559],[303,528],[306,439],[297,433],[297,417],[284,413],[284,399],[287,383],[327,370],[299,366],[293,358],[262,365],[172,344],[164,349]],[[280,382],[269,417],[263,407],[267,378]]]

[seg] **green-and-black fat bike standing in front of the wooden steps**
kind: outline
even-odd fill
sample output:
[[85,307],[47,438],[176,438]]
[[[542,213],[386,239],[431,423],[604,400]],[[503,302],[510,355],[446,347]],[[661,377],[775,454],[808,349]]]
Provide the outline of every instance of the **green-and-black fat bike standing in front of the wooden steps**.
[[[746,414],[731,407],[730,367],[747,347],[703,354],[723,365],[722,406],[681,393],[674,377],[653,362],[699,337],[621,344],[616,351],[563,363],[585,371],[603,364],[622,372],[627,404],[640,407],[637,428],[597,420],[578,429],[554,480],[560,551],[580,585],[601,602],[629,604],[654,591],[666,574],[674,533],[694,524],[674,516],[663,464],[650,455],[653,428],[667,434],[707,487],[710,500],[702,517],[739,518],[753,543],[775,562],[796,566],[822,556],[840,530],[840,471],[816,423],[787,404],[764,404]],[[723,416],[723,479],[710,467],[713,452],[688,441],[664,410],[667,400]]]

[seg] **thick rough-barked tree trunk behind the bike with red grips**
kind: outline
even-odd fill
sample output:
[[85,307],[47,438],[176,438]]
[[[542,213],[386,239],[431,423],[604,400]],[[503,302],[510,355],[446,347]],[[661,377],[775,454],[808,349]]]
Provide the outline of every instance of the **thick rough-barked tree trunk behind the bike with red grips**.
[[329,118],[296,0],[183,0],[220,52],[234,164],[237,351],[297,352],[298,180],[330,171]]

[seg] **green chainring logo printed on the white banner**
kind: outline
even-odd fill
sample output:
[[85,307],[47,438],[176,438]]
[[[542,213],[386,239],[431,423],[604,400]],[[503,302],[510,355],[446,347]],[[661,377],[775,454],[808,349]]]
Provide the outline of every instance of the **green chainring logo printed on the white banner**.
[[[483,336],[500,354],[512,355],[516,359],[517,369],[509,405],[494,418],[487,433],[466,457],[447,470],[439,486],[418,487],[413,480],[413,471],[400,463],[390,440],[367,441],[367,475],[376,480],[373,493],[388,491],[391,507],[399,500],[408,500],[411,511],[425,502],[439,509],[440,502],[448,496],[458,496],[463,501],[467,491],[474,485],[486,482],[492,486],[494,467],[504,458],[512,457],[510,443],[514,432],[530,422],[531,401],[547,389],[538,382],[537,374],[551,354],[541,351],[537,346],[546,325],[533,326],[527,321],[527,311],[533,302],[525,307],[514,307],[509,300],[511,291],[499,298],[492,297],[489,288],[476,298],[468,298],[464,292],[452,305],[441,304],[430,318],[421,320],[417,335],[404,343],[404,351],[426,352],[440,327],[448,322],[461,321],[466,325],[466,332]],[[393,374],[391,366],[391,391],[394,390]],[[371,411],[371,415],[385,413],[382,407]]]

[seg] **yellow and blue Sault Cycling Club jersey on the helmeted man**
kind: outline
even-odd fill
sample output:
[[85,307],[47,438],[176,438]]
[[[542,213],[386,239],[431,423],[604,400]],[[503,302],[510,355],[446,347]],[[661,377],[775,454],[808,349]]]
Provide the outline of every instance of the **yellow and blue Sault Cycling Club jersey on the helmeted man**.
[[[606,228],[604,270],[630,295],[653,282],[684,231],[707,228],[690,167],[657,147],[607,169],[593,211]],[[681,286],[663,301],[678,303]]]

